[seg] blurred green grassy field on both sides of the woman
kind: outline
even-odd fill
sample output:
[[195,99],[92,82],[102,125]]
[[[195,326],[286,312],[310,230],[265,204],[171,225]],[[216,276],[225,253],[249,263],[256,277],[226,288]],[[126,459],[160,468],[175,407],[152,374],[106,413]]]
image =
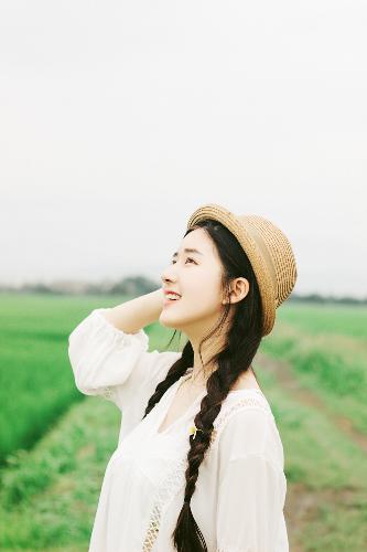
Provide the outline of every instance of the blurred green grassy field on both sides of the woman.
[[[120,415],[76,390],[67,338],[123,300],[1,296],[0,550],[88,548]],[[172,335],[145,331],[150,350]],[[290,550],[367,550],[367,308],[288,301],[253,368],[284,446]]]

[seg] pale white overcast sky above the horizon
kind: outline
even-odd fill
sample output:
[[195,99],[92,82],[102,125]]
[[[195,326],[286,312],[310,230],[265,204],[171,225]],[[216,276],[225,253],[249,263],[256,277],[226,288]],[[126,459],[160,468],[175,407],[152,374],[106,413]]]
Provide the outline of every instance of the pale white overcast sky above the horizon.
[[367,4],[2,0],[0,282],[160,283],[192,212],[367,296]]

